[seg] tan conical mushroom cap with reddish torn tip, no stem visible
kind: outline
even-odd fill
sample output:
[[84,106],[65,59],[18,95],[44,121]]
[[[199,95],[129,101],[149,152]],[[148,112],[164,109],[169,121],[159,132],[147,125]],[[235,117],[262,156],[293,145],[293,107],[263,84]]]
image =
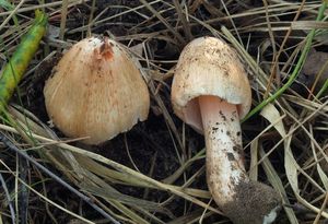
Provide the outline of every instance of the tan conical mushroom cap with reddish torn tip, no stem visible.
[[44,95],[54,123],[71,138],[99,144],[145,120],[150,96],[140,64],[118,43],[90,37],[52,70]]

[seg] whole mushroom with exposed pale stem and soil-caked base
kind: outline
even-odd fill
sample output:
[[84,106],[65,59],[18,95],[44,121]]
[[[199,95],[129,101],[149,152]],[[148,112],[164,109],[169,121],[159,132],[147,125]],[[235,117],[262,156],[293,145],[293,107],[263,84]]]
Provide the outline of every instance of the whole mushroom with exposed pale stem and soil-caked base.
[[239,119],[251,92],[236,52],[214,37],[200,37],[183,50],[172,84],[175,114],[204,134],[207,182],[220,209],[235,224],[272,223],[280,198],[246,174]]

